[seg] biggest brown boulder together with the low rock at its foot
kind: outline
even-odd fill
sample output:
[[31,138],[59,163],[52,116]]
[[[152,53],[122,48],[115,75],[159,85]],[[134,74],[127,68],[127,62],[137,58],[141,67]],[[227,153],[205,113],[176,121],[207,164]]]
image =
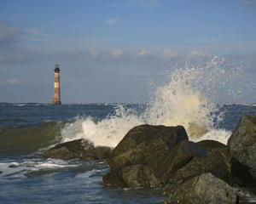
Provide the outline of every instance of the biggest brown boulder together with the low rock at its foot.
[[108,159],[111,172],[103,177],[103,184],[160,186],[193,157],[206,155],[200,145],[188,141],[182,126],[137,126],[113,150]]

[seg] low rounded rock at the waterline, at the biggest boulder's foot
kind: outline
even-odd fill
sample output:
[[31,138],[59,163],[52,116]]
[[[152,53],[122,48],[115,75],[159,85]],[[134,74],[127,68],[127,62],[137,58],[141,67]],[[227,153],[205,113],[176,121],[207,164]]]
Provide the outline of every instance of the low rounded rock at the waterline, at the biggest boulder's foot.
[[160,178],[148,165],[132,165],[108,173],[103,177],[103,184],[115,187],[158,187]]

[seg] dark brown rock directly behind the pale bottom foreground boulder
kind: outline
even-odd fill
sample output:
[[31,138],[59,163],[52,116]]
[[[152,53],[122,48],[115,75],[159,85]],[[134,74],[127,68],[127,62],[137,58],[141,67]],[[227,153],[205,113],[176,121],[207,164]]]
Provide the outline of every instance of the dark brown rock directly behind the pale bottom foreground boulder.
[[228,148],[212,149],[207,156],[194,157],[184,167],[177,170],[174,180],[183,181],[202,173],[212,173],[229,184],[233,183],[230,170],[230,154]]

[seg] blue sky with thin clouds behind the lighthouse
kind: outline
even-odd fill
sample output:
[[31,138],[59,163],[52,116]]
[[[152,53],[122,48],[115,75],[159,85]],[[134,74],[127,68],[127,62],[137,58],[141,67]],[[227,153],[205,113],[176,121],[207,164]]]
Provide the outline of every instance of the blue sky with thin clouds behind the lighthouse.
[[[147,102],[152,78],[213,55],[256,81],[256,0],[0,0],[0,102],[51,103],[56,64],[62,103]],[[218,102],[256,103],[244,89]]]

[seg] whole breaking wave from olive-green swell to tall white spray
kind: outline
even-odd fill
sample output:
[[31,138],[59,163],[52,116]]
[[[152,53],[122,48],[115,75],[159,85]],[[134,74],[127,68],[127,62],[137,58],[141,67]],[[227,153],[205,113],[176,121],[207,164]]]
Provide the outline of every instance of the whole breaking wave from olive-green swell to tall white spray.
[[[40,153],[54,144],[74,139],[89,139],[96,146],[114,148],[132,127],[142,124],[182,125],[192,141],[215,139],[226,144],[232,128],[225,129],[219,125],[225,112],[215,101],[221,94],[241,97],[238,83],[240,78],[244,78],[241,70],[241,66],[233,67],[224,58],[213,56],[197,64],[185,63],[182,67],[174,67],[171,74],[166,74],[166,83],[154,85],[148,104],[96,105],[90,116],[77,116],[72,121],[3,126],[0,128],[0,154]],[[247,83],[243,82],[244,87],[248,85],[248,90],[252,84],[249,78]],[[227,88],[229,91],[224,92]],[[107,117],[99,117],[97,108],[104,114],[115,111]],[[20,123],[24,119],[15,120]]]

